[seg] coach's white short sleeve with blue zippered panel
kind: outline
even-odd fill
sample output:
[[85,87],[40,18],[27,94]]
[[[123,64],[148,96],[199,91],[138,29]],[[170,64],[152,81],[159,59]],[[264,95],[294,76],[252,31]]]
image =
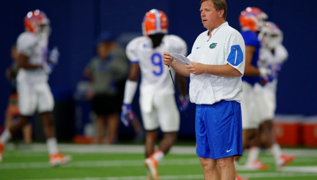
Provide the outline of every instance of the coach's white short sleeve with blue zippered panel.
[[236,68],[242,75],[245,66],[245,44],[239,32],[232,33],[225,41],[225,62]]

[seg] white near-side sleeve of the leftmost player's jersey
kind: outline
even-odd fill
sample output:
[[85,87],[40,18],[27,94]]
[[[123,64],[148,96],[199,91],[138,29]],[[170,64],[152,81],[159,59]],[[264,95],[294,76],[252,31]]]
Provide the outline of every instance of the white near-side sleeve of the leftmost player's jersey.
[[22,33],[16,41],[17,52],[19,54],[31,56],[37,43],[36,37]]

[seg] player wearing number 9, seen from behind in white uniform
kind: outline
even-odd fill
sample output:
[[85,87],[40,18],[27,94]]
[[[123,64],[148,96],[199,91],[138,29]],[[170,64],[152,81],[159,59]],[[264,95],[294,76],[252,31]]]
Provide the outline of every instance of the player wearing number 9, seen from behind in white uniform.
[[[128,124],[133,120],[131,103],[138,86],[141,71],[139,105],[146,130],[146,159],[149,179],[158,179],[157,165],[164,158],[177,138],[179,112],[174,98],[174,87],[168,67],[164,66],[164,51],[186,55],[187,45],[176,35],[167,35],[168,19],[163,11],[152,9],[146,13],[142,23],[143,35],[133,39],[126,47],[131,62],[126,80],[121,120]],[[171,70],[173,78],[175,71]],[[182,80],[181,76],[177,76]],[[184,86],[182,87],[184,88]],[[182,90],[183,97],[186,97]],[[158,128],[163,132],[159,149],[154,151]]]

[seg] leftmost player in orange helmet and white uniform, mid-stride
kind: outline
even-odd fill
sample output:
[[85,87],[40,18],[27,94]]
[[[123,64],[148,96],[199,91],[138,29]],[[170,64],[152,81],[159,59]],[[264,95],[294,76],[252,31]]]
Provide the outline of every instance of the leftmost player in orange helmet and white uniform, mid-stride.
[[25,32],[19,35],[17,46],[17,92],[20,119],[17,123],[5,129],[0,137],[0,159],[3,145],[21,127],[29,123],[31,116],[37,110],[43,120],[44,134],[47,138],[49,162],[52,166],[65,164],[70,157],[63,156],[57,149],[54,120],[52,111],[54,99],[48,84],[48,74],[57,63],[59,52],[55,48],[48,58],[49,19],[40,10],[27,13],[24,18]]

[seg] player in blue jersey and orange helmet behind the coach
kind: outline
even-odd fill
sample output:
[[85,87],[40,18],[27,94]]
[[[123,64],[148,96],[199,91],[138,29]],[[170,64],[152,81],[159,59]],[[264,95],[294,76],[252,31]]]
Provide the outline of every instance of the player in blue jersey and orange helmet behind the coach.
[[[257,67],[261,42],[258,34],[263,26],[264,20],[268,16],[262,10],[255,7],[248,7],[239,16],[241,35],[245,42],[245,69],[242,77],[243,94],[241,100],[242,129],[243,129],[243,150],[255,137],[259,127],[259,120],[256,117],[256,101],[253,86],[259,77],[266,77],[270,70]],[[240,156],[241,157],[241,156]],[[240,157],[235,157],[237,161]],[[249,154],[246,167],[248,169],[268,169],[266,164],[262,164],[255,156]]]

